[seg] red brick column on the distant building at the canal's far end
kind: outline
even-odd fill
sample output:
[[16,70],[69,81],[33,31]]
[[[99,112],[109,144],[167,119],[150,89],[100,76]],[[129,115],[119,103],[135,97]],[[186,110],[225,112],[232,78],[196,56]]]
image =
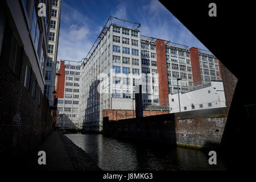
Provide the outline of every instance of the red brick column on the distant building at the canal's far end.
[[65,88],[65,65],[64,61],[60,61],[60,75],[57,76],[57,93],[56,98],[64,98],[64,88]]

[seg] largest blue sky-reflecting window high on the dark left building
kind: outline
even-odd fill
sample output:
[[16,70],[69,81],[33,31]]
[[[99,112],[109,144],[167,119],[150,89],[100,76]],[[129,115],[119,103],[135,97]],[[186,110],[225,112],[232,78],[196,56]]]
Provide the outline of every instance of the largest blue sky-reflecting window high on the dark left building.
[[32,40],[36,49],[36,52],[38,51],[38,44],[39,44],[39,36],[40,36],[40,30],[38,26],[38,18],[36,16],[36,8],[34,7],[32,20],[31,20],[31,30],[30,30]]

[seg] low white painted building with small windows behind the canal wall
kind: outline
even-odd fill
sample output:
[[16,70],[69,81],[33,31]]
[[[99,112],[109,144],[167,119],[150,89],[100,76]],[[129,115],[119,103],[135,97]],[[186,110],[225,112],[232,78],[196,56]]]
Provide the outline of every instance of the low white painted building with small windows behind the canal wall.
[[170,113],[226,107],[222,81],[210,81],[193,91],[179,93],[179,96],[178,93],[169,94],[169,107]]

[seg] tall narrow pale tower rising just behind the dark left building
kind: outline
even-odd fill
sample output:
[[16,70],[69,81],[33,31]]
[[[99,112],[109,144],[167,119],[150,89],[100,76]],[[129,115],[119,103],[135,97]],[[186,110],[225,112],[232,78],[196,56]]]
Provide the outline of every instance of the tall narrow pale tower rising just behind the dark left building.
[[57,63],[57,53],[59,46],[59,33],[60,33],[60,9],[61,0],[52,0],[51,3],[51,20],[49,25],[48,36],[48,57],[46,61],[46,94],[49,98],[49,105],[53,105],[54,96],[52,94],[55,90],[55,73]]

